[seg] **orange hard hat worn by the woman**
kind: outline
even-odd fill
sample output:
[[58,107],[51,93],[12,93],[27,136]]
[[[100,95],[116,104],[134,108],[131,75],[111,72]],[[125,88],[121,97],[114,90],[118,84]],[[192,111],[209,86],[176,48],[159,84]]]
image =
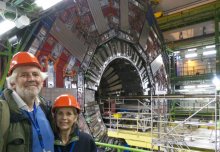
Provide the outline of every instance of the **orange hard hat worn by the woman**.
[[52,107],[52,112],[54,113],[56,108],[62,107],[73,107],[77,109],[78,113],[80,112],[80,106],[76,98],[69,94],[60,95],[55,99]]

